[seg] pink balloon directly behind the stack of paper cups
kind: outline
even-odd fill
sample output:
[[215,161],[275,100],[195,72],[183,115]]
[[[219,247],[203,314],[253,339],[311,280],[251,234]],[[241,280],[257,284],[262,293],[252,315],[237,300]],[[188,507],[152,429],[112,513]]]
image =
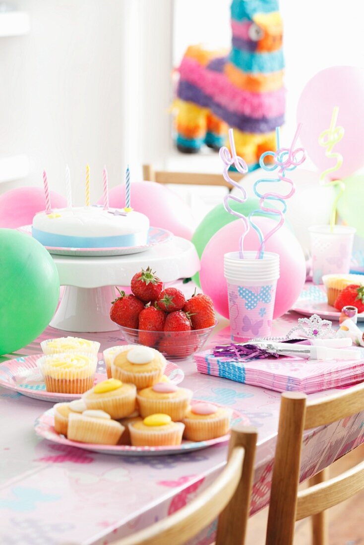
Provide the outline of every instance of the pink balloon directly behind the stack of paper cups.
[[[267,233],[275,220],[256,217],[254,222]],[[243,230],[240,221],[232,221],[213,235],[201,257],[201,288],[213,300],[215,310],[229,318],[228,289],[224,277],[224,253],[238,251]],[[244,250],[258,250],[259,241],[254,229],[244,238]],[[273,318],[287,312],[298,299],[306,280],[305,256],[299,241],[288,227],[281,227],[266,243],[267,252],[279,253],[281,276],[277,283]]]

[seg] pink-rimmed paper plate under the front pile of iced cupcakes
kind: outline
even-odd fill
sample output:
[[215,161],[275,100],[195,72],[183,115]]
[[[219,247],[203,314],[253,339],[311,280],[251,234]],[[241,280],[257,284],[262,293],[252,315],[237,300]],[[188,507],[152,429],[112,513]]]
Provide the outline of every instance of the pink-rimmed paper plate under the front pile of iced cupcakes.
[[[193,403],[197,403],[195,399]],[[213,403],[217,405],[216,403]],[[217,405],[221,406],[221,405]],[[246,416],[232,411],[231,425],[235,426],[237,423],[243,423],[244,426],[249,426],[249,420]],[[99,452],[100,454],[112,454],[114,456],[165,456],[170,454],[181,454],[184,452],[191,452],[194,450],[206,449],[208,446],[217,445],[218,443],[225,443],[230,439],[230,434],[223,435],[217,439],[209,439],[208,441],[182,441],[181,445],[170,446],[126,446],[126,445],[95,445],[91,443],[78,443],[77,441],[70,441],[66,439],[64,435],[56,433],[54,428],[54,411],[49,409],[45,411],[34,423],[35,433],[52,441],[53,443],[59,443],[61,445],[76,446],[79,449],[91,450],[93,452]]]

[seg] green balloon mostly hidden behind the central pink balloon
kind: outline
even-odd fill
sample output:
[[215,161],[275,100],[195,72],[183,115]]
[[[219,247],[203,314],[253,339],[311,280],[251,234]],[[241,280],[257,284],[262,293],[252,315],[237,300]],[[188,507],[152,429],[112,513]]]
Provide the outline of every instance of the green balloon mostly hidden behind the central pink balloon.
[[[271,203],[270,205],[272,206],[272,208],[275,208],[273,203]],[[238,203],[230,199],[229,206],[235,212],[239,212],[240,214],[243,214],[247,217],[250,212],[259,209],[259,199],[256,197],[249,197],[243,203]],[[258,212],[256,215],[265,216],[266,214]],[[277,215],[271,214],[270,217],[275,219],[277,218]],[[196,231],[194,232],[194,235],[192,237],[192,242],[196,247],[200,259],[202,256],[202,252],[205,250],[205,246],[207,245],[208,241],[213,237],[213,235],[217,233],[219,229],[224,227],[224,225],[226,225],[227,223],[231,223],[231,221],[235,221],[237,219],[238,217],[234,216],[233,214],[229,214],[229,212],[225,210],[223,203],[217,204],[216,207],[214,207],[212,210],[210,210],[208,214],[206,214],[204,219],[196,228]],[[201,287],[199,272],[196,272],[196,274],[192,277],[192,280],[199,287]]]

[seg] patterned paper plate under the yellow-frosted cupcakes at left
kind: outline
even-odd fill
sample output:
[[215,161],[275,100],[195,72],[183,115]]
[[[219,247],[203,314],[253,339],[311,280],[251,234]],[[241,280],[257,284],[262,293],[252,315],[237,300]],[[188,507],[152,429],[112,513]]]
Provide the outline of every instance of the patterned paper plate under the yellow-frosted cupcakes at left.
[[[0,386],[22,393],[23,396],[53,403],[79,399],[81,397],[80,393],[52,393],[46,391],[43,377],[37,367],[37,360],[41,356],[43,354],[4,361],[0,365]],[[181,367],[172,364],[170,361],[167,362],[165,375],[175,384],[180,384],[184,379]],[[105,365],[100,360],[95,375],[95,384],[106,378]]]

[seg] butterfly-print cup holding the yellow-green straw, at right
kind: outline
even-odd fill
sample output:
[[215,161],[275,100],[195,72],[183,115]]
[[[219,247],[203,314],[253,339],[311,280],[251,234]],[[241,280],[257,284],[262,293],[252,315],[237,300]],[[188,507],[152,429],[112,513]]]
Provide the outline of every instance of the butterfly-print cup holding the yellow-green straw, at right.
[[312,280],[322,284],[325,274],[348,274],[353,252],[355,227],[329,225],[309,227],[311,235]]

